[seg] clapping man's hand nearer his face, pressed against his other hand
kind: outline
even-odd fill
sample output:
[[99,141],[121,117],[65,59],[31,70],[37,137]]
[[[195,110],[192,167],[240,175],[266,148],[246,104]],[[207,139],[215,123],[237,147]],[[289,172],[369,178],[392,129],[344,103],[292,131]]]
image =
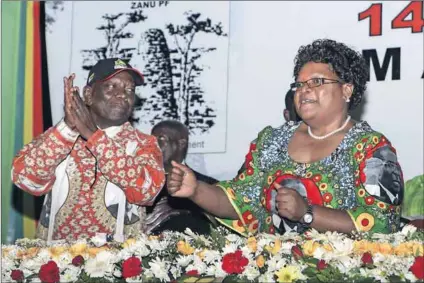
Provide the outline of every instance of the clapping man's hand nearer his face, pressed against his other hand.
[[88,111],[87,106],[79,95],[79,88],[74,87],[74,90],[71,108],[73,111],[75,128],[85,140],[88,140],[94,132],[97,131],[97,125],[94,123],[90,111]]

